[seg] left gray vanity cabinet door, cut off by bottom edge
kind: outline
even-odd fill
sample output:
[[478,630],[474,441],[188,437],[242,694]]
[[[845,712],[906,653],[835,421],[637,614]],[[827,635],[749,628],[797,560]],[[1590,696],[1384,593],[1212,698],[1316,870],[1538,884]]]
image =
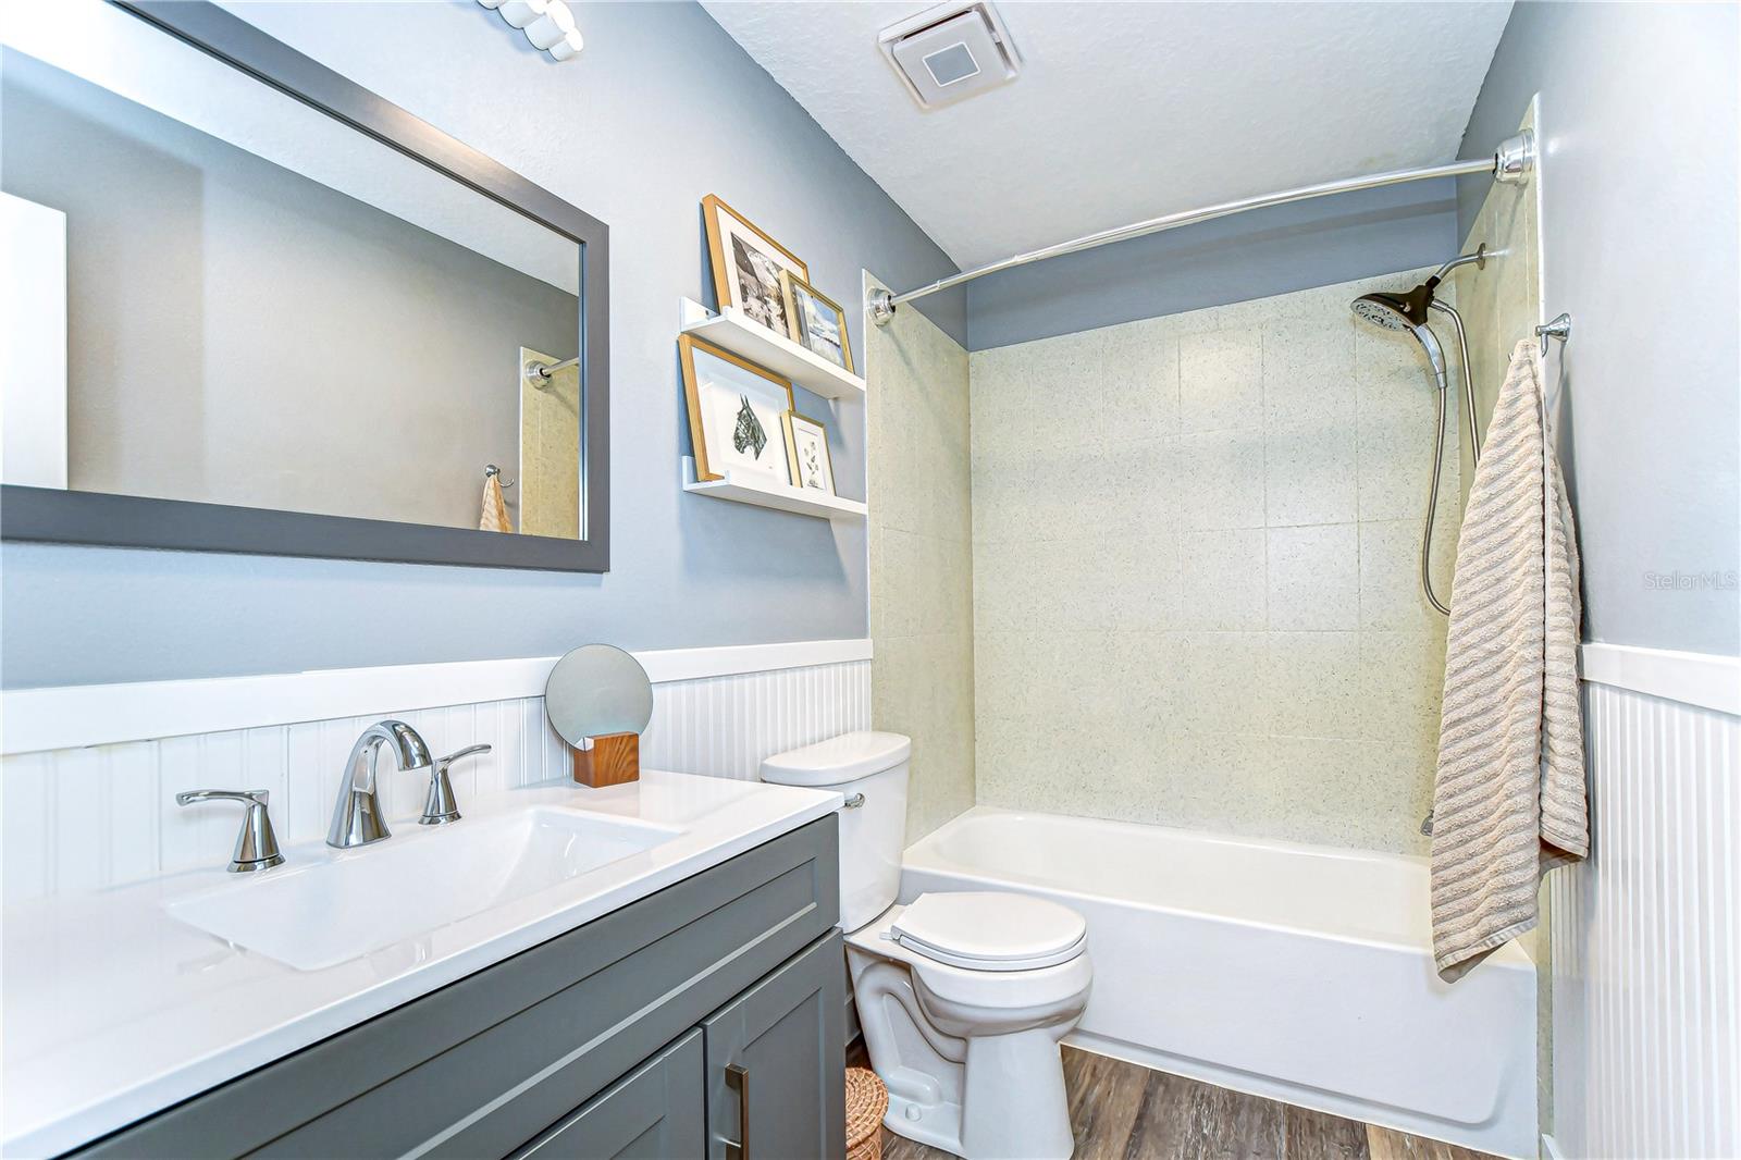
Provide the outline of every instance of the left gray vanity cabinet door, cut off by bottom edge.
[[700,1160],[707,1141],[702,1029],[559,1120],[514,1160]]

